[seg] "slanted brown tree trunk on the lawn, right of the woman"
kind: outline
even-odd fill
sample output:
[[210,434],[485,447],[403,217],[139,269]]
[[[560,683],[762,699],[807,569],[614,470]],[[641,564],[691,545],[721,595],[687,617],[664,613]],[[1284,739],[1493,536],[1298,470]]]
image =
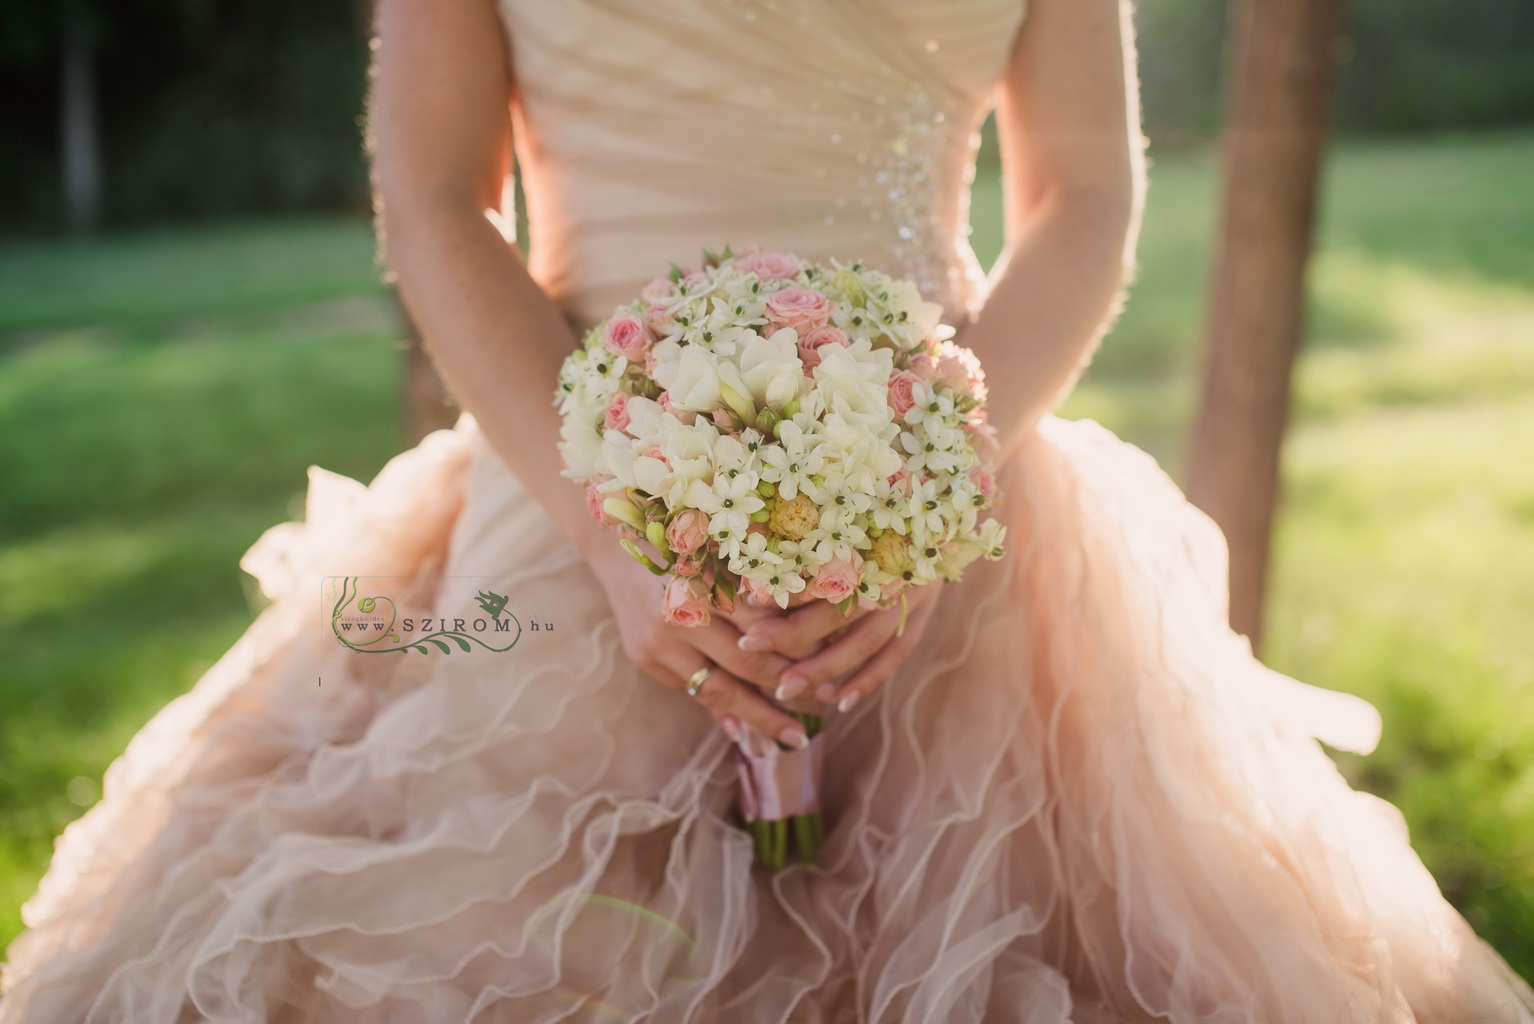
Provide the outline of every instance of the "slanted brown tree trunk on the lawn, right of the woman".
[[1187,495],[1230,546],[1230,624],[1261,639],[1279,446],[1344,0],[1236,0],[1224,208]]

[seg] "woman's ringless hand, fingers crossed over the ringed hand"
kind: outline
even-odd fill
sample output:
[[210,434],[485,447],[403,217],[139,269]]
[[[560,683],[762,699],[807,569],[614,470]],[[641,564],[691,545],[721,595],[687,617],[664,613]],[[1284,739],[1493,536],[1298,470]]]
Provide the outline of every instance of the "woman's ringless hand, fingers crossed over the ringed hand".
[[[741,648],[753,653],[795,651],[827,642],[808,656],[793,656],[778,676],[773,691],[779,701],[813,694],[822,704],[850,711],[858,701],[894,674],[937,610],[940,584],[911,587],[905,592],[905,629],[900,607],[870,612],[853,610],[844,616],[828,601],[815,601],[787,615],[756,619],[741,636]],[[899,633],[899,635],[897,635]],[[792,655],[790,655],[792,656]],[[845,682],[838,679],[851,673]]]

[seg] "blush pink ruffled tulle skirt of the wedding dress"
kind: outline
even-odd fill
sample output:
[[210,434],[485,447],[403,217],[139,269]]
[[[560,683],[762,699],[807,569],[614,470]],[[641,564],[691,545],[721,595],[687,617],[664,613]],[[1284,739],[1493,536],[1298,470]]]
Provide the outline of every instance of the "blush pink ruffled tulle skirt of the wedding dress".
[[[1002,486],[1014,550],[830,720],[827,849],[772,875],[723,734],[471,418],[316,472],[245,560],[272,606],[61,837],[0,1021],[1531,1019],[1316,743],[1373,708],[1250,656],[1150,458],[1049,418]],[[563,639],[316,685],[314,584],[359,564],[423,613],[537,593]]]

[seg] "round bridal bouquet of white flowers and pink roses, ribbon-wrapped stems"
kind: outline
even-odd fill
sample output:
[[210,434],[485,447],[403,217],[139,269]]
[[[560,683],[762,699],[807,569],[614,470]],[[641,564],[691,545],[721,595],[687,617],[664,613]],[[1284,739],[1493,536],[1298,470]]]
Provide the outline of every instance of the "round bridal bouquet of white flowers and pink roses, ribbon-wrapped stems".
[[[726,250],[672,267],[586,334],[558,379],[565,475],[664,578],[667,619],[706,624],[742,593],[888,607],[1002,556],[985,376],[940,316],[862,264]],[[779,762],[807,757],[813,777],[818,742],[785,751],[747,733],[742,811],[761,858],[784,862],[785,822],[813,858],[816,788],[785,799]]]

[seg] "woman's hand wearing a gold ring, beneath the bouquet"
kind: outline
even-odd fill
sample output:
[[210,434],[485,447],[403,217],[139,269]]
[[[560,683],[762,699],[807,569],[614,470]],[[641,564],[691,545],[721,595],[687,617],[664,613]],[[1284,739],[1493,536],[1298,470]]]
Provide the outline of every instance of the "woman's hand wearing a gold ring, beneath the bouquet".
[[673,690],[686,690],[693,673],[713,665],[695,699],[730,739],[739,736],[739,722],[750,722],[788,747],[808,743],[804,727],[761,693],[778,687],[790,664],[787,658],[742,650],[741,632],[718,615],[709,625],[672,625],[661,610],[660,579],[617,544],[598,546],[589,560],[618,618],[623,650],[643,671]]

